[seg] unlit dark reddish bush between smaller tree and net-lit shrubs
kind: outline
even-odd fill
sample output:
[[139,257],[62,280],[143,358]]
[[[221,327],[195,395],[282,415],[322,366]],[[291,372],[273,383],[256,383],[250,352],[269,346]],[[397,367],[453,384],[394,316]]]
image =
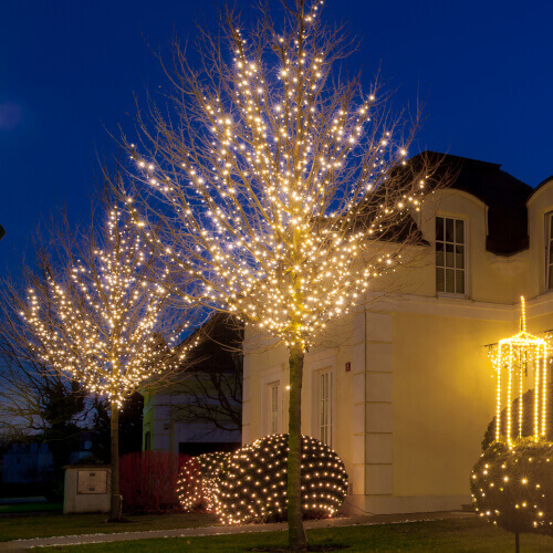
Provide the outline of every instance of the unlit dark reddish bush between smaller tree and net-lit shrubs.
[[190,459],[168,451],[127,453],[119,460],[119,489],[127,512],[159,512],[178,508],[179,469]]

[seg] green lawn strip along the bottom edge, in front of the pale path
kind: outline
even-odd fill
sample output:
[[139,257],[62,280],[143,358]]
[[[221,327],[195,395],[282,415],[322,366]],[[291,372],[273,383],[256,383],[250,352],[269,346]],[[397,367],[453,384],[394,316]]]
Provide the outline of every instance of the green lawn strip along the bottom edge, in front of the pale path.
[[[514,551],[514,538],[502,530],[478,519],[455,521],[411,522],[377,526],[351,526],[307,532],[312,545],[336,546],[335,551],[418,551],[436,553]],[[268,532],[237,534],[229,536],[179,538],[163,540],[140,540],[134,542],[102,543],[62,547],[66,553],[91,552],[213,552],[285,551],[286,533]],[[340,549],[338,549],[340,547]],[[521,551],[551,552],[553,539],[549,536],[521,536]]]

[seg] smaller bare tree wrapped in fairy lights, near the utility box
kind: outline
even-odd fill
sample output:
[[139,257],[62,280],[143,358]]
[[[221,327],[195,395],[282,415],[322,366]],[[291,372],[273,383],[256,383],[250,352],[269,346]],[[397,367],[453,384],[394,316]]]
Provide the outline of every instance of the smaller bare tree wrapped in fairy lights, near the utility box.
[[[66,237],[66,234],[65,234]],[[111,205],[100,232],[84,244],[59,234],[55,255],[40,257],[25,296],[8,301],[24,321],[29,348],[53,371],[105,396],[111,410],[111,511],[121,519],[118,416],[125,399],[178,368],[184,325],[170,309],[167,269],[142,240],[128,213]]]

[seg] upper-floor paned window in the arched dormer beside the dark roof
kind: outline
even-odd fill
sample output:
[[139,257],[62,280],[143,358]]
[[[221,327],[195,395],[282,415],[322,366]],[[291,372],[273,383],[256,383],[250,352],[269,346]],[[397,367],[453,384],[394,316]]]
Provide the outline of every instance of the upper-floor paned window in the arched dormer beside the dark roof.
[[465,221],[436,217],[436,292],[465,294]]

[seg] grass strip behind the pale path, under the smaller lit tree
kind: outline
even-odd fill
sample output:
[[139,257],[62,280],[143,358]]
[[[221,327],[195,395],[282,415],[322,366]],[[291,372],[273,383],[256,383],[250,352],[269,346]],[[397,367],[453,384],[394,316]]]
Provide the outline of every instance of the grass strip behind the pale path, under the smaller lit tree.
[[0,517],[0,542],[53,535],[76,535],[117,532],[146,532],[218,524],[210,514],[174,513],[128,517],[129,522],[105,523],[106,514],[58,514],[41,517]]

